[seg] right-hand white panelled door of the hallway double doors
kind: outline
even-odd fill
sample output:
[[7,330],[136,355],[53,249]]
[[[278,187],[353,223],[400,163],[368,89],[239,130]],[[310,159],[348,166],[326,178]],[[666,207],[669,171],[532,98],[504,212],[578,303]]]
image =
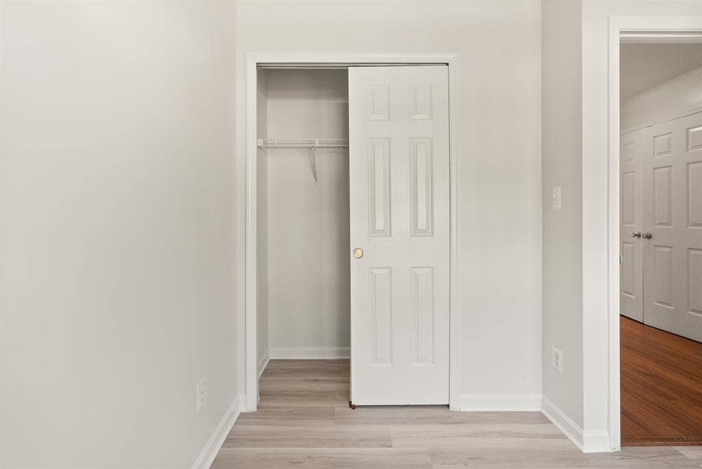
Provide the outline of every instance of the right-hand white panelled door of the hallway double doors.
[[702,341],[702,113],[642,140],[644,324]]

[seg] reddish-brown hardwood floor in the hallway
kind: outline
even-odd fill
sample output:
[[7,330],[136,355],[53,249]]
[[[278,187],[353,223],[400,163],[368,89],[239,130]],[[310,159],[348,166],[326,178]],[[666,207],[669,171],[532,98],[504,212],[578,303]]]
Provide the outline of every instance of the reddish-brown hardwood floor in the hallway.
[[702,445],[702,343],[620,324],[622,446]]

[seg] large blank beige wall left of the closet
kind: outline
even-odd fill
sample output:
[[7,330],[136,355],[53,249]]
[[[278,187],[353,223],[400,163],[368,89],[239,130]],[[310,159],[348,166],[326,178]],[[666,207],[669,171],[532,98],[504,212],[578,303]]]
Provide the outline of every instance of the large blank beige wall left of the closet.
[[237,396],[233,5],[0,34],[0,465],[190,467]]

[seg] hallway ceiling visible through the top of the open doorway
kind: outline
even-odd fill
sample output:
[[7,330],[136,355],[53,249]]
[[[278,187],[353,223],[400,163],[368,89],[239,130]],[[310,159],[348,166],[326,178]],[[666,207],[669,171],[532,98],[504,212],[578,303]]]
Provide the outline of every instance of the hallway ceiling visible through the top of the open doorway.
[[702,67],[702,44],[621,44],[621,99]]

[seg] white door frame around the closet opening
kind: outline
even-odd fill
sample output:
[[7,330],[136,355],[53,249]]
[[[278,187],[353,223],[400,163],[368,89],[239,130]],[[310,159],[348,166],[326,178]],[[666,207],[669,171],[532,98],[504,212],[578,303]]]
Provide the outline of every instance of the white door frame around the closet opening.
[[[257,316],[257,279],[256,279],[256,99],[257,73],[260,66],[290,68],[338,68],[350,66],[380,65],[448,65],[449,67],[449,186],[450,186],[450,235],[449,235],[449,408],[460,410],[460,332],[461,317],[458,306],[458,287],[456,281],[467,272],[458,274],[458,194],[456,175],[458,174],[458,154],[460,128],[459,105],[459,64],[458,53],[430,54],[377,54],[377,53],[246,53],[245,89],[244,89],[244,128],[246,145],[246,222],[245,222],[245,267],[244,308],[237,303],[237,324],[244,329],[243,347],[239,346],[239,383],[244,383],[244,401],[239,404],[242,410],[255,411],[258,403],[258,363],[256,357],[256,316]],[[464,266],[463,270],[475,268]],[[237,271],[237,274],[239,272]],[[239,289],[241,291],[242,289]],[[243,314],[242,314],[243,312]],[[243,327],[241,327],[243,326]],[[243,353],[241,353],[243,352]]]

